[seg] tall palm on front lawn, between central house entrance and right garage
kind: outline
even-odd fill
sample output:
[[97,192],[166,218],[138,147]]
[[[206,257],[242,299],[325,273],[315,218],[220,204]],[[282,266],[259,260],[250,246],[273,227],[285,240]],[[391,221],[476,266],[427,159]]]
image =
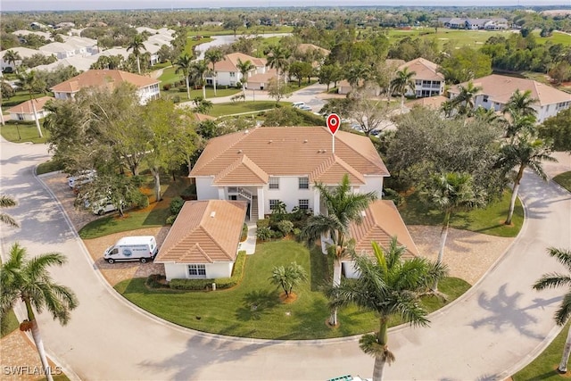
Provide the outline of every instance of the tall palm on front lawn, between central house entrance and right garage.
[[[319,214],[311,216],[302,229],[302,238],[312,244],[322,235],[331,236],[332,243],[327,246],[327,253],[334,257],[333,286],[341,283],[341,261],[352,252],[352,244],[347,242],[349,228],[352,223],[360,223],[361,212],[368,204],[377,200],[375,192],[366,194],[352,193],[349,176],[345,174],[341,183],[333,190],[323,184],[315,184],[320,199],[325,201],[327,216]],[[331,326],[337,325],[337,310],[333,309],[329,319]]]

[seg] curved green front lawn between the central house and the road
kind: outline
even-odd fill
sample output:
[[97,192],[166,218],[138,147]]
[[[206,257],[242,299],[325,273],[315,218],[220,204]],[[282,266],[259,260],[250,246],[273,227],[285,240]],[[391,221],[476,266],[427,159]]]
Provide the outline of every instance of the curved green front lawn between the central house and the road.
[[[357,335],[377,328],[377,318],[373,313],[355,308],[339,311],[340,327],[327,327],[327,299],[319,292],[319,286],[331,269],[328,268],[327,257],[317,247],[310,253],[302,244],[282,240],[259,244],[256,249],[255,254],[247,257],[242,283],[229,290],[149,290],[145,287],[144,278],[123,281],[115,289],[129,301],[162,319],[220,335],[317,339]],[[269,277],[274,266],[291,261],[302,265],[309,279],[294,287],[297,300],[284,304],[279,301],[280,289],[269,283]],[[445,280],[440,289],[448,293],[451,288],[457,294],[457,283]],[[469,288],[465,282],[463,286],[460,294]]]

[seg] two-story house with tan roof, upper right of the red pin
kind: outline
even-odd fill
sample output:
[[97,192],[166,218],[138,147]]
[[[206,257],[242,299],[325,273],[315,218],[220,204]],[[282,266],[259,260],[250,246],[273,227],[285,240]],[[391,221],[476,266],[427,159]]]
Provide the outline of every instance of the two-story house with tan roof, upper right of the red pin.
[[401,64],[398,70],[403,70],[404,68],[408,68],[409,72],[414,71],[416,73],[413,76],[415,81],[414,91],[411,91],[411,89],[408,88],[405,95],[414,95],[417,98],[443,95],[444,76],[442,73],[438,72],[437,64],[425,60],[424,58],[417,58]]

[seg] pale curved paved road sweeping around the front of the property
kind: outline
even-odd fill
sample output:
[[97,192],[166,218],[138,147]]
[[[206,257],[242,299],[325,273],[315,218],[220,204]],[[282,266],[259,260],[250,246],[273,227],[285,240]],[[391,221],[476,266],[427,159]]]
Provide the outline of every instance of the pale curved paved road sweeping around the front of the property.
[[[285,343],[225,339],[161,322],[132,307],[103,282],[58,203],[34,178],[32,167],[46,160],[46,148],[4,141],[0,148],[2,193],[17,197],[20,205],[11,213],[21,221],[21,229],[2,228],[3,255],[18,240],[32,254],[59,251],[68,256],[69,264],[55,270],[54,278],[73,288],[81,304],[67,327],[45,313],[38,319],[47,351],[78,377],[371,376],[373,360],[360,352],[356,337]],[[522,235],[468,294],[431,317],[432,327],[393,330],[397,362],[387,369],[387,379],[501,379],[541,350],[544,337],[557,332],[551,316],[559,293],[535,293],[530,286],[542,273],[560,269],[545,255],[547,246],[571,247],[571,196],[530,174],[521,194],[528,214]]]

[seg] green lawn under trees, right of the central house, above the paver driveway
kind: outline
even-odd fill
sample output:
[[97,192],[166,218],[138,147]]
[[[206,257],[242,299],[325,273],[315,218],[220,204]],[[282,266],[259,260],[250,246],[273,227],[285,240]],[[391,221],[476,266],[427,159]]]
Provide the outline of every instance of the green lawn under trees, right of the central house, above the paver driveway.
[[[509,192],[505,192],[501,201],[492,203],[485,209],[455,214],[451,220],[451,228],[470,230],[490,236],[517,236],[524,223],[524,210],[519,200],[516,202],[512,226],[503,224],[508,217],[510,195]],[[406,197],[399,211],[407,225],[440,225],[443,222],[443,213],[430,211],[416,193]]]

